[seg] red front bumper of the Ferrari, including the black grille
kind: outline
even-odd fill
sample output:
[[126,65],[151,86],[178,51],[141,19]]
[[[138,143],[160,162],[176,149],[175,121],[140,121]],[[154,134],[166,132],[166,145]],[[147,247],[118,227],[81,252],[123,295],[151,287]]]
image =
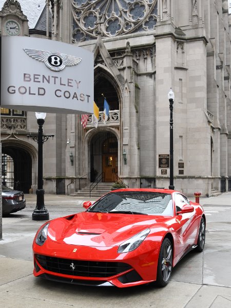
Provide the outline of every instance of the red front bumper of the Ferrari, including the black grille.
[[[141,249],[142,248],[142,249]],[[159,243],[118,254],[118,246],[33,244],[34,276],[71,284],[128,287],[156,280]]]

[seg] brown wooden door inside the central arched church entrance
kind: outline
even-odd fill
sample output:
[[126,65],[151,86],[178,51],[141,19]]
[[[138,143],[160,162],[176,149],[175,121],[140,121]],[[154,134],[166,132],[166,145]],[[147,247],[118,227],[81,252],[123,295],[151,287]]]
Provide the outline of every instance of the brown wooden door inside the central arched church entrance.
[[118,155],[104,154],[103,155],[103,172],[105,182],[114,182],[118,174]]

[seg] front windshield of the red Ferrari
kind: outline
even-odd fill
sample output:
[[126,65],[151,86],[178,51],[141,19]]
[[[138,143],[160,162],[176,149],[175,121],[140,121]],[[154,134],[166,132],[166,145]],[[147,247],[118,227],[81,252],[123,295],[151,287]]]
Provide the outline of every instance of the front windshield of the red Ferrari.
[[172,216],[171,194],[147,191],[110,192],[95,202],[90,212]]

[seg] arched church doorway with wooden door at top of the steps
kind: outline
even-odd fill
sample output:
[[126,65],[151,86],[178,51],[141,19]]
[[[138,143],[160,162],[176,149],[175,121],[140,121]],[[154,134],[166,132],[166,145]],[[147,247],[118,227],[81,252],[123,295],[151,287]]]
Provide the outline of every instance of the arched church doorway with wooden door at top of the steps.
[[114,182],[118,175],[118,140],[109,131],[95,134],[90,143],[91,177],[93,182],[103,175],[103,182]]

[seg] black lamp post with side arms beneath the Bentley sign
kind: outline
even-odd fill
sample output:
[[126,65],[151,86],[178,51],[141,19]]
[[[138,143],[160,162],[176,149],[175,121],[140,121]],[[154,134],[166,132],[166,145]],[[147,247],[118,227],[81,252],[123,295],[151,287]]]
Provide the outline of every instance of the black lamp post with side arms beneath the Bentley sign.
[[46,113],[45,112],[35,112],[35,116],[38,124],[38,134],[27,135],[27,137],[33,138],[37,142],[37,152],[38,152],[38,163],[37,163],[37,202],[36,207],[32,214],[32,220],[41,221],[49,220],[49,213],[44,205],[44,189],[43,189],[43,143],[46,142],[50,137],[54,135],[44,136],[43,135],[43,124],[45,122]]

